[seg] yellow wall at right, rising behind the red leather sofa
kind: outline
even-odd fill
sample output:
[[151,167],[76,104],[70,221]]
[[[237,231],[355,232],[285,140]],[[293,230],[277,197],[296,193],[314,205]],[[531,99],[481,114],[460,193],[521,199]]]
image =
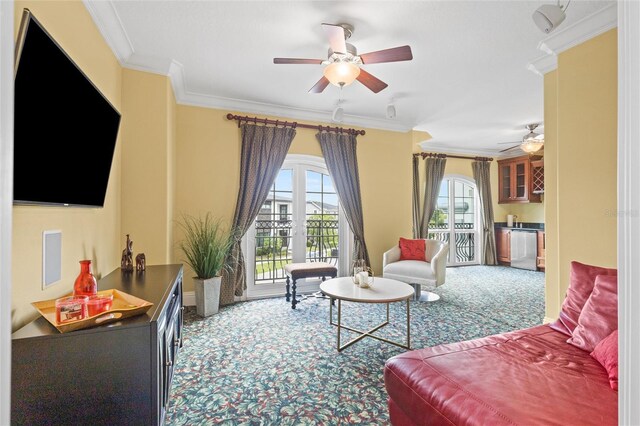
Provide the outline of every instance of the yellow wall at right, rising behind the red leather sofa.
[[545,78],[545,121],[551,119],[553,129],[549,103],[556,97],[557,139],[552,136],[545,172],[555,163],[557,176],[548,174],[545,187],[557,191],[556,209],[546,214],[557,221],[547,244],[557,250],[558,264],[547,264],[548,318],[558,315],[572,260],[605,267],[617,262],[617,31],[558,55],[555,85],[553,78]]

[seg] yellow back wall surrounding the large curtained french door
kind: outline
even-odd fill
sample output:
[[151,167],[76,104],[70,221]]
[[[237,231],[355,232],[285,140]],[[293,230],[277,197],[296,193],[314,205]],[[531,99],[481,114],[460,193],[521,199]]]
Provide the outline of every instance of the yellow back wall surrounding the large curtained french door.
[[[226,111],[178,105],[176,215],[211,211],[231,223],[240,178],[240,131]],[[276,117],[271,117],[276,118]],[[278,117],[278,119],[286,119]],[[365,240],[374,271],[382,253],[411,236],[411,133],[366,130],[358,136]],[[289,153],[321,156],[316,132],[298,129]],[[181,233],[176,230],[179,241]],[[175,250],[175,259],[182,259]],[[185,274],[185,291],[192,284]]]

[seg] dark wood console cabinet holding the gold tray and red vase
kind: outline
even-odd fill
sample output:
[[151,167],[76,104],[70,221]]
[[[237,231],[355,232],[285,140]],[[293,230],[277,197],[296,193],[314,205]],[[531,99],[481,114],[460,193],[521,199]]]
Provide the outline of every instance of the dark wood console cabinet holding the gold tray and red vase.
[[12,336],[12,424],[164,423],[182,346],[182,265],[98,282],[153,303],[144,315],[60,333],[40,317]]

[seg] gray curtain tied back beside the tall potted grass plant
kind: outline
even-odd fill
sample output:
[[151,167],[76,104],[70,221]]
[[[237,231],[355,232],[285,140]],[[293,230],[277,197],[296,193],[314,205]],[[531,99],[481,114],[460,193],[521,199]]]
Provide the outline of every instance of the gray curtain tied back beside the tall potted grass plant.
[[245,262],[240,241],[260,212],[280,167],[287,156],[295,129],[242,124],[240,157],[240,189],[236,201],[233,226],[237,232],[231,248],[231,271],[222,275],[220,303],[228,305],[234,296],[242,296],[247,288]]

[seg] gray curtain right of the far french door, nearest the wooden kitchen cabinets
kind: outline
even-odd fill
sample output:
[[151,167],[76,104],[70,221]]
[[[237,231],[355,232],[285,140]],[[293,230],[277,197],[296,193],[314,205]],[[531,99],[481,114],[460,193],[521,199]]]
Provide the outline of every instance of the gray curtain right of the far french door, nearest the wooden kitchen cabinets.
[[496,262],[496,234],[493,227],[493,204],[491,204],[491,183],[488,161],[474,161],[471,163],[473,178],[478,187],[478,196],[482,206],[482,251],[483,265],[497,265]]

